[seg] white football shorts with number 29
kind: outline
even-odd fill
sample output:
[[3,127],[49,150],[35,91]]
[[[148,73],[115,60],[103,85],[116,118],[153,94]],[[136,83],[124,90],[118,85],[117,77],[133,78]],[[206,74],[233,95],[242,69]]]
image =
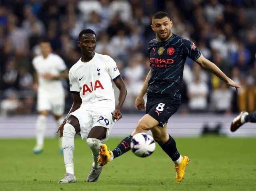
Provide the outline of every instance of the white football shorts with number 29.
[[109,110],[109,112],[100,113],[88,111],[84,108],[79,108],[78,110],[70,113],[70,115],[73,115],[78,119],[81,129],[80,136],[82,139],[88,137],[88,134],[93,127],[105,127],[107,129],[106,138],[101,140],[101,142],[105,142],[106,140],[108,140],[108,136],[112,130],[112,127],[114,126],[111,112],[112,110]]

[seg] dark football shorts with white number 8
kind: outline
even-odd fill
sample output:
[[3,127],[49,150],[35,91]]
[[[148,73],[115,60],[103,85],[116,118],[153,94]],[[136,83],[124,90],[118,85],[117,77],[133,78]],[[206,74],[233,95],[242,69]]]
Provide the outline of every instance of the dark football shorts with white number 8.
[[148,96],[146,114],[159,122],[158,126],[164,127],[168,119],[176,113],[180,106],[180,100]]

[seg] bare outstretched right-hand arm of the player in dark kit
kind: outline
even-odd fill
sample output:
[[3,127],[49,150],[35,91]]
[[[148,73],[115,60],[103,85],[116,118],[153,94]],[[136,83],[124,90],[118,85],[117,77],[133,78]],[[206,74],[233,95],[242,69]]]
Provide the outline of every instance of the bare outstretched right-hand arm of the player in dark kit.
[[210,71],[214,75],[218,76],[220,79],[222,79],[225,83],[227,83],[229,86],[235,87],[236,91],[238,91],[238,86],[232,79],[227,77],[214,63],[206,59],[202,54],[198,59],[196,59],[196,63],[198,63],[202,68]]

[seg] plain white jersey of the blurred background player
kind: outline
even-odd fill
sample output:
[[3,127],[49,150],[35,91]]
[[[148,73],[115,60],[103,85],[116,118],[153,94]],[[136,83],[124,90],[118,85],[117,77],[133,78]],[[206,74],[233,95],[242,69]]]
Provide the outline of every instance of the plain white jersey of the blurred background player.
[[60,75],[62,71],[67,69],[64,60],[59,55],[51,53],[46,59],[42,55],[38,55],[34,57],[32,65],[38,76],[38,93],[64,94],[64,88],[60,80],[42,78],[42,75],[46,73]]

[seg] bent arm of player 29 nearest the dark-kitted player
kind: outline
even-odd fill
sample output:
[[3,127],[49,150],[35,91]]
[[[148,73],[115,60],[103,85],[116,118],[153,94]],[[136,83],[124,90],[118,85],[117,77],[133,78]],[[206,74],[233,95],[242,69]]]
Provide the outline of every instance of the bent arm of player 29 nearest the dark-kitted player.
[[119,89],[119,97],[118,97],[118,103],[116,106],[116,109],[114,111],[113,117],[116,119],[116,121],[118,121],[120,118],[122,118],[122,114],[120,112],[120,109],[122,108],[123,104],[124,104],[124,100],[126,98],[127,95],[127,88],[126,85],[122,79],[122,77],[119,77],[118,79],[116,79],[114,81],[116,87]]

